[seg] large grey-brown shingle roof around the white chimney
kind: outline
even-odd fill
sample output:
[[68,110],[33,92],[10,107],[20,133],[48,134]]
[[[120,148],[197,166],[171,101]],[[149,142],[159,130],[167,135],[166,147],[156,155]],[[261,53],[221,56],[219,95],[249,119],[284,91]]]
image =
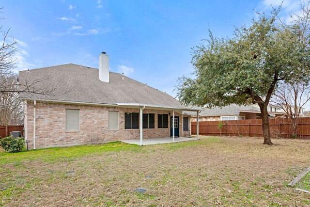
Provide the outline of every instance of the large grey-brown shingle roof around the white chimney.
[[33,82],[35,88],[56,87],[53,95],[21,93],[23,99],[77,101],[101,104],[139,103],[156,106],[184,108],[174,97],[133,80],[122,74],[109,72],[109,83],[98,78],[99,70],[77,64],[19,72],[19,81]]

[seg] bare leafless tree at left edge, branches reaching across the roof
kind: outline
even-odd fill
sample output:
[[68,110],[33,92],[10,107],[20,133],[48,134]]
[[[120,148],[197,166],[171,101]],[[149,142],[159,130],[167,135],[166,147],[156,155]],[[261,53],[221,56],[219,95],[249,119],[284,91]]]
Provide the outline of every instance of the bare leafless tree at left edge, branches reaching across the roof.
[[1,26],[0,32],[2,33],[0,40],[0,125],[20,125],[23,122],[24,103],[19,98],[19,93],[51,97],[55,95],[56,87],[52,88],[43,83],[50,78],[18,81],[18,75],[14,71],[18,43],[9,36],[10,29],[4,30]]

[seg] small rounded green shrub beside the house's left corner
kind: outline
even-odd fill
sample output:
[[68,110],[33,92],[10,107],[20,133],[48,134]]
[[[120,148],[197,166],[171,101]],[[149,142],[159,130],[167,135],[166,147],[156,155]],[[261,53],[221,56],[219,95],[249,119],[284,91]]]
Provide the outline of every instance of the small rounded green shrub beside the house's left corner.
[[23,137],[8,136],[0,141],[0,146],[6,152],[20,152],[25,146],[25,139]]

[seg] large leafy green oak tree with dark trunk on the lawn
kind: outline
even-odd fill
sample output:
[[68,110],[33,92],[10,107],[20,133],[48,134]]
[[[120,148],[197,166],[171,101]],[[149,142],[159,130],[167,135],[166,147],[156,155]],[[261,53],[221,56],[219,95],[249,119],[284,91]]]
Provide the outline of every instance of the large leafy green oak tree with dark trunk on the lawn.
[[298,23],[279,22],[278,11],[260,14],[249,27],[236,28],[232,38],[210,32],[204,44],[193,48],[195,78],[182,77],[177,97],[183,104],[226,106],[258,104],[263,118],[264,144],[270,139],[267,105],[278,81],[309,79],[309,38]]

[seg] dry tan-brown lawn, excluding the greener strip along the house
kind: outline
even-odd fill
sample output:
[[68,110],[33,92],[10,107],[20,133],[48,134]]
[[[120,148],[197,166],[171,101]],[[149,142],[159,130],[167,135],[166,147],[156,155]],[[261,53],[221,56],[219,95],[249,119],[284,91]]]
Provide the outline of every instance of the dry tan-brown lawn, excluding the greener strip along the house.
[[[287,183],[309,167],[310,140],[262,142],[201,136],[77,158],[27,159],[26,153],[25,159],[1,164],[0,184],[6,189],[0,191],[0,205],[309,206],[310,194]],[[65,175],[72,170],[74,175]],[[149,190],[135,193],[138,187]]]

